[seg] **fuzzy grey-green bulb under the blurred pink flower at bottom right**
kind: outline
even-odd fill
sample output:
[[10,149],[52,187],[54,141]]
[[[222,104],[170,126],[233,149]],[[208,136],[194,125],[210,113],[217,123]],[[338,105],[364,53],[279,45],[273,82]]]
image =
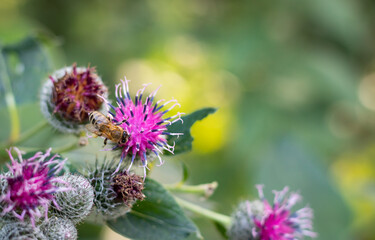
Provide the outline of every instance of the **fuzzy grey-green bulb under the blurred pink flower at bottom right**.
[[252,231],[255,227],[255,216],[263,214],[264,207],[261,201],[241,202],[232,214],[232,225],[228,230],[231,240],[255,240]]

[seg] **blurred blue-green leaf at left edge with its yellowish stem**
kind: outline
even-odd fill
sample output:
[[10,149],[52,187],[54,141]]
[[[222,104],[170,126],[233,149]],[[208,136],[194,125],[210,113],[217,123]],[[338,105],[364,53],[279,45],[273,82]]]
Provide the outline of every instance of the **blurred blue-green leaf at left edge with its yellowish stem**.
[[20,135],[17,104],[38,101],[40,83],[49,71],[49,59],[36,38],[0,46],[0,108],[8,110],[9,141]]

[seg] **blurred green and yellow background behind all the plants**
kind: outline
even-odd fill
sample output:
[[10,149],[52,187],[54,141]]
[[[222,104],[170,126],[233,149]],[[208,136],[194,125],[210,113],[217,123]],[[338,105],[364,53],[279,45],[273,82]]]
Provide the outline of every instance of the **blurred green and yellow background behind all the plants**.
[[374,1],[0,1],[1,43],[30,35],[54,68],[96,66],[112,93],[126,75],[133,90],[162,84],[183,112],[218,108],[193,127],[193,151],[153,173],[178,181],[183,161],[190,184],[218,181],[192,201],[230,214],[254,184],[288,185],[315,210],[318,239],[375,239]]

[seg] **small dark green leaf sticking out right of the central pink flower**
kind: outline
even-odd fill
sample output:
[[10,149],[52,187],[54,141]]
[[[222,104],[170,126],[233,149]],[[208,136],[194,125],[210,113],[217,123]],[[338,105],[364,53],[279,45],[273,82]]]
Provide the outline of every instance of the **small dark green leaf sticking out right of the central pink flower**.
[[[168,132],[170,133],[183,133],[182,136],[169,136],[168,143],[173,145],[175,142],[174,154],[179,154],[183,152],[190,151],[192,149],[192,142],[194,138],[191,136],[190,128],[194,125],[196,121],[202,120],[209,114],[216,112],[216,108],[203,108],[195,111],[189,115],[182,117],[183,123],[177,121],[168,127]],[[170,153],[165,153],[170,155]]]

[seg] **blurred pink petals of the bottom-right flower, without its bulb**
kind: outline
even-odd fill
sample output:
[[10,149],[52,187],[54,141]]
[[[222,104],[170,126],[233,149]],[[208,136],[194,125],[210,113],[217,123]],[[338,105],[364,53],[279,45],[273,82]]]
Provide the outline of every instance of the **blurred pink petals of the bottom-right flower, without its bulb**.
[[275,199],[271,205],[264,197],[263,186],[257,185],[264,211],[261,216],[254,216],[253,236],[259,240],[302,239],[304,236],[316,237],[312,231],[313,210],[304,207],[296,212],[291,208],[301,200],[297,193],[290,193],[288,187],[274,191]]

